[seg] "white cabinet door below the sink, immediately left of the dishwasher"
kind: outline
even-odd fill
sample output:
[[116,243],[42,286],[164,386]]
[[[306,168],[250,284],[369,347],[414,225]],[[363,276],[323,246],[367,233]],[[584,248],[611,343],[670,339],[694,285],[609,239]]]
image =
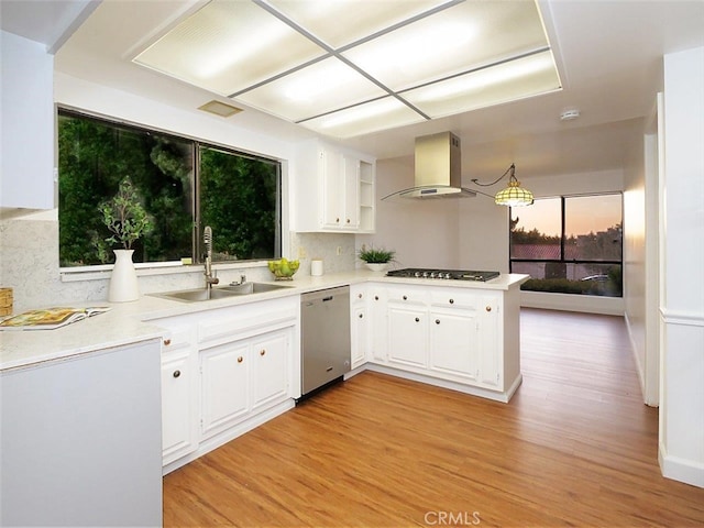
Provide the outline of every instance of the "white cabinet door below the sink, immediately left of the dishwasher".
[[264,334],[252,341],[252,410],[288,396],[288,343],[290,330]]

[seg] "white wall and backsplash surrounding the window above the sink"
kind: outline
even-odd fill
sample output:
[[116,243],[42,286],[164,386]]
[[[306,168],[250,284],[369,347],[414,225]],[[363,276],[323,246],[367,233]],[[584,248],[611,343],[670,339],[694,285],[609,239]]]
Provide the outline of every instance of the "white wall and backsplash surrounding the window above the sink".
[[[222,118],[178,110],[65,74],[55,74],[54,82],[55,100],[59,105],[282,160],[285,196],[288,178],[295,177],[295,163],[290,162],[294,158],[294,143],[255,134],[246,129],[233,129]],[[305,250],[307,257],[301,258],[299,274],[310,273],[312,257],[324,260],[327,273],[354,267],[354,237],[292,233],[287,227],[289,208],[290,204],[285,200],[283,253],[296,258],[299,249]],[[61,273],[56,209],[3,218],[0,220],[0,246],[1,285],[13,288],[14,312],[72,301],[105,301],[107,298],[109,271],[84,275]],[[265,264],[215,267],[221,283],[237,280],[241,273],[245,273],[251,280],[271,279]],[[191,288],[202,284],[202,266],[177,267],[169,273],[138,268],[138,277],[142,294]]]

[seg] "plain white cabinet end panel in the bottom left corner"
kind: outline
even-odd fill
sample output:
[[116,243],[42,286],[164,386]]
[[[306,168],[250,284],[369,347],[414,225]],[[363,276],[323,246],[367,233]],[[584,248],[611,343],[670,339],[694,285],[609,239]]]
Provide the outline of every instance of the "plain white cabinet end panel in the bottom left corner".
[[160,351],[0,374],[0,526],[162,526]]

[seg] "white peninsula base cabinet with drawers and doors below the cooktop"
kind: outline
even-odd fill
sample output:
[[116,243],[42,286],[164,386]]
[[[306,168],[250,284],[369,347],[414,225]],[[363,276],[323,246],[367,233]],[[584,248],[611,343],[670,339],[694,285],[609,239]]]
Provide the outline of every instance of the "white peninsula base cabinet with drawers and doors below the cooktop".
[[[509,318],[518,317],[517,294],[448,286],[384,285],[371,283],[370,306],[385,315],[372,319],[367,361],[422,380],[450,382],[455,387],[477,387],[482,395],[514,391],[520,382],[517,328],[504,336],[504,296],[510,300]],[[370,308],[370,310],[372,309]],[[376,350],[375,350],[376,346]],[[510,361],[505,351],[510,348]],[[382,371],[385,372],[385,371]],[[418,378],[418,377],[414,377]],[[513,384],[507,387],[505,382]],[[443,385],[444,386],[444,385]]]

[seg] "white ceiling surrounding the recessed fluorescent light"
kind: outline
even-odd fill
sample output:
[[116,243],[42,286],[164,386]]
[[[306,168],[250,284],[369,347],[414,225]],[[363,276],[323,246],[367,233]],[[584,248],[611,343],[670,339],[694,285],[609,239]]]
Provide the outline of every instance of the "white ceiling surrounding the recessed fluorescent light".
[[[3,30],[44,42],[50,48],[59,47],[57,70],[193,111],[213,98],[132,63],[156,36],[204,1],[105,0],[97,9],[89,0],[0,1]],[[345,143],[380,158],[411,156],[416,136],[449,130],[462,140],[465,182],[494,179],[512,162],[524,180],[622,167],[624,155],[641,141],[644,122],[652,112],[656,92],[662,89],[662,55],[704,46],[704,2],[538,3],[562,91]],[[84,18],[87,20],[74,32]],[[561,112],[571,108],[579,108],[580,118],[561,121]],[[235,127],[290,140],[312,134],[253,109],[229,120]]]

